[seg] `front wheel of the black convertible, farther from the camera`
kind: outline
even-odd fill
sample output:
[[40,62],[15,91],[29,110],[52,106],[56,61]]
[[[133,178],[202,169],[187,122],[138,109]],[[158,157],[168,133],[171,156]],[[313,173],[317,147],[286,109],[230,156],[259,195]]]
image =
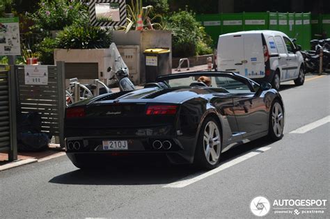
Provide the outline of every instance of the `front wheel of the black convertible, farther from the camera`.
[[269,128],[268,136],[272,140],[280,140],[283,138],[284,129],[284,111],[280,102],[276,99],[273,104],[271,111],[269,112]]

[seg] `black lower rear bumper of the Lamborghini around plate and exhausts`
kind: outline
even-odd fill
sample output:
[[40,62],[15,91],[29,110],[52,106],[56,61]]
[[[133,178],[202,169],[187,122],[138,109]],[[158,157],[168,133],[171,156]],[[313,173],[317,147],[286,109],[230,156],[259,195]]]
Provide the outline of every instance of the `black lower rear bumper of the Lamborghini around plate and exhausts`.
[[[104,149],[103,140],[127,140],[128,148],[125,150]],[[171,147],[154,147],[152,143],[159,141],[171,143]],[[71,137],[65,138],[65,149],[68,158],[72,163],[86,162],[111,162],[127,161],[136,159],[155,159],[155,157],[166,157],[171,163],[183,164],[194,161],[194,138],[184,138],[183,136],[168,136],[162,138],[111,138],[109,137]],[[80,147],[68,147],[69,143],[79,143]],[[72,145],[72,144],[70,144]],[[189,145],[183,147],[182,145]]]

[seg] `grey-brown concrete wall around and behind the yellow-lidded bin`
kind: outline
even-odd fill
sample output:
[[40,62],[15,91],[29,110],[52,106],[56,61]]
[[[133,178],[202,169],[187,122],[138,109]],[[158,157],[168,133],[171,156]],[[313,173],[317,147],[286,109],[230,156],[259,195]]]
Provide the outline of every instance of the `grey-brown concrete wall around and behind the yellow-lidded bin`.
[[[172,34],[170,31],[113,31],[113,42],[116,45],[139,45],[140,47],[140,83],[146,81],[146,60],[143,51],[151,48],[172,49]],[[169,56],[172,69],[172,52]],[[170,74],[171,72],[168,72]]]

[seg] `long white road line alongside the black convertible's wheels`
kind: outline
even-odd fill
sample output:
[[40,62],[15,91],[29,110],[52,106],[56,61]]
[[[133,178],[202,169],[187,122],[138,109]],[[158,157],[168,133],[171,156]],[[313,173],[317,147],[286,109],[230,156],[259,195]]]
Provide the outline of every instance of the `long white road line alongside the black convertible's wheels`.
[[201,179],[210,177],[211,175],[214,175],[217,172],[220,172],[221,170],[225,170],[237,163],[246,161],[247,159],[250,159],[253,156],[262,154],[263,152],[266,152],[269,149],[271,149],[271,147],[260,147],[257,149],[253,149],[251,152],[243,154],[242,156],[238,156],[237,158],[227,161],[226,163],[222,163],[218,168],[215,168],[213,170],[210,170],[210,171],[202,173],[202,174],[198,173],[196,175],[191,175],[189,177],[185,177],[185,178],[181,179],[180,181],[175,181],[171,184],[167,184],[167,185],[163,186],[163,188],[183,188],[185,186],[189,186],[190,184],[194,184],[196,181],[200,181]]

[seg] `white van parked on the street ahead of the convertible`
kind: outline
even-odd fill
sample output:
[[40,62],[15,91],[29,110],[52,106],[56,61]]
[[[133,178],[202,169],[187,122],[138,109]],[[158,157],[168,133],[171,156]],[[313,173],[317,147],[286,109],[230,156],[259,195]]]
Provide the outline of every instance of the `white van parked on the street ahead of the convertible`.
[[267,81],[278,90],[282,81],[305,81],[304,58],[290,38],[279,31],[242,31],[219,36],[218,70]]

